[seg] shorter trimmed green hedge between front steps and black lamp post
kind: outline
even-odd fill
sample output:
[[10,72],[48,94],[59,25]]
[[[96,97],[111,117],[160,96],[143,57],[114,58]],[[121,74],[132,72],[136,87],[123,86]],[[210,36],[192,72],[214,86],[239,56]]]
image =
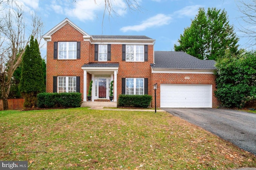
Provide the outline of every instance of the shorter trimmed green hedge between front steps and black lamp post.
[[120,94],[118,97],[118,106],[133,106],[147,108],[150,106],[152,96],[144,95],[125,95]]

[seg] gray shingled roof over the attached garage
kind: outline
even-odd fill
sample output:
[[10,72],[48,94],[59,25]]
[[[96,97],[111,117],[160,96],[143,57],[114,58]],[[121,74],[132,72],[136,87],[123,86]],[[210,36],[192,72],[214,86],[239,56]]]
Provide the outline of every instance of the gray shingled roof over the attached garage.
[[200,60],[181,51],[155,51],[152,68],[216,69],[214,60]]

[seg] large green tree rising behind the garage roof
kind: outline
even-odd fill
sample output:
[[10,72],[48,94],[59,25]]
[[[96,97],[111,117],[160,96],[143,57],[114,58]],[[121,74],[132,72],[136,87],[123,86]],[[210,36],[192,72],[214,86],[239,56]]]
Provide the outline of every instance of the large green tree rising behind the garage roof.
[[204,8],[199,8],[178,42],[179,45],[174,45],[175,51],[184,51],[198,59],[217,60],[224,56],[226,49],[238,52],[234,27],[229,25],[227,13],[216,8],[208,8],[207,13]]

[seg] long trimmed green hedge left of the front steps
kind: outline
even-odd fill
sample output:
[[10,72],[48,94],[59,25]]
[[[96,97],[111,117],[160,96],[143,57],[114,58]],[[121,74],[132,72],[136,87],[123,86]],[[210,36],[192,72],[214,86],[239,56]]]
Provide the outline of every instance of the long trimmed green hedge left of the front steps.
[[80,107],[81,93],[39,93],[37,106],[40,108]]

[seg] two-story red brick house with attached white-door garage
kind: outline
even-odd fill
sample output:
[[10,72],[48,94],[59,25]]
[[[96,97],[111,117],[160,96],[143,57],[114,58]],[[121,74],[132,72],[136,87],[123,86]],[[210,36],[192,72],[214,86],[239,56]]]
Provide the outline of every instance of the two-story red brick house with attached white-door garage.
[[[148,94],[157,107],[216,107],[215,61],[154,51],[147,36],[89,35],[68,18],[43,35],[46,92],[80,92],[82,106],[117,106],[120,94]],[[88,88],[92,86],[92,102]],[[109,100],[114,80],[114,100]],[[152,102],[154,107],[154,102]]]

